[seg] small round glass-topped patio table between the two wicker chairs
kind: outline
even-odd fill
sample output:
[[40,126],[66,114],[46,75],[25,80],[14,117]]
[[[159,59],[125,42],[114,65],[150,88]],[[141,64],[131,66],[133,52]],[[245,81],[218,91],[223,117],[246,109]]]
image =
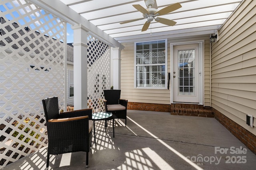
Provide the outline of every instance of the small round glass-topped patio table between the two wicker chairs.
[[95,121],[104,120],[105,121],[105,131],[107,127],[107,121],[113,120],[113,137],[115,137],[115,129],[114,129],[114,117],[113,114],[110,112],[96,112],[92,113],[92,121],[93,121],[93,128],[94,128],[94,143],[96,143],[96,136],[95,136]]

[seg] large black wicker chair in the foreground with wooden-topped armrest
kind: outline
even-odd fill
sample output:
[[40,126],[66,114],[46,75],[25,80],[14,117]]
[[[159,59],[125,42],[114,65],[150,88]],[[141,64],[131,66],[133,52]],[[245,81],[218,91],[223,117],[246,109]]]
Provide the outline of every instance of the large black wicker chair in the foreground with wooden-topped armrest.
[[42,100],[48,132],[48,153],[46,170],[49,167],[50,154],[86,152],[92,146],[92,109],[81,109],[59,113],[58,97]]

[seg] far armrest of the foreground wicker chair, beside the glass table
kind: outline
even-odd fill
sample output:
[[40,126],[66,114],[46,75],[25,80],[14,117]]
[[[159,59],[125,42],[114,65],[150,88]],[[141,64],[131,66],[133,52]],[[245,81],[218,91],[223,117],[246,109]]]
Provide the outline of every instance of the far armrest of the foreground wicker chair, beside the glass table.
[[68,118],[68,117],[79,117],[79,116],[88,116],[90,120],[92,120],[92,109],[80,109],[73,111],[64,111],[60,113],[60,118]]

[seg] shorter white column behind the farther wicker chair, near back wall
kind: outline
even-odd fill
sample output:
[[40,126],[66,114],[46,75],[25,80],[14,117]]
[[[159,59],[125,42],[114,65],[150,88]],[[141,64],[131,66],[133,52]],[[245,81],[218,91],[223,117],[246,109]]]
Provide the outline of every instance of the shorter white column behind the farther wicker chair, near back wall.
[[113,86],[114,89],[121,89],[121,50],[119,47],[111,48],[113,59]]

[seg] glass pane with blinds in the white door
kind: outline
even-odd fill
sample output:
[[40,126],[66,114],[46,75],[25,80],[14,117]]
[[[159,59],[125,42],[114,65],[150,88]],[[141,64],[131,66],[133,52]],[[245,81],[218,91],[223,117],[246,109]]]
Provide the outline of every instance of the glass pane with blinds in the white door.
[[195,49],[178,50],[178,95],[195,96]]

